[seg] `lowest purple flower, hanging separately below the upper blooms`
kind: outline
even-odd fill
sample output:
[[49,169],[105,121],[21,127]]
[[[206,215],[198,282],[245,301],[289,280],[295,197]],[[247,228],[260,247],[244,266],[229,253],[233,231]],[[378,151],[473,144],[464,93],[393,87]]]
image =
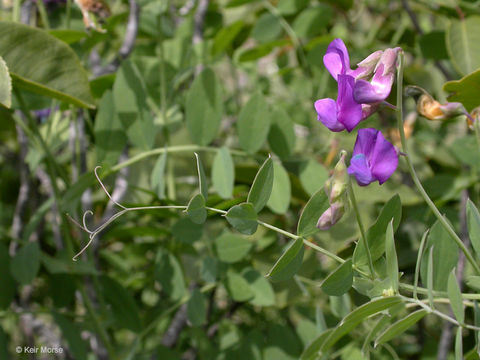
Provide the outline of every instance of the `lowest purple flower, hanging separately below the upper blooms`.
[[358,130],[348,174],[354,175],[360,186],[377,181],[383,184],[398,165],[395,147],[373,128]]

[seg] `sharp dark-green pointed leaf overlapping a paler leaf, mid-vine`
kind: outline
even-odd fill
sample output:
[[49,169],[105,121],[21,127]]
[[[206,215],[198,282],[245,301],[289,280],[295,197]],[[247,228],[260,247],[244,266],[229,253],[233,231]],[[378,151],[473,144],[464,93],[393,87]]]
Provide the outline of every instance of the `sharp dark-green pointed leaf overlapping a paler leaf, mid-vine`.
[[267,204],[268,199],[272,193],[274,179],[274,169],[272,158],[269,157],[255,176],[252,187],[248,192],[247,202],[253,205],[253,208],[258,213]]

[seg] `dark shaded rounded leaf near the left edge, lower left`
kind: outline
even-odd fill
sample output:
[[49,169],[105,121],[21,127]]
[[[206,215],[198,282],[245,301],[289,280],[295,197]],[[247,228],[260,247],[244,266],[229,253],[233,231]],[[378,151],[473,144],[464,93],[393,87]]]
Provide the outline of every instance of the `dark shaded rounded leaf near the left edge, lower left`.
[[17,251],[10,262],[10,271],[15,280],[22,285],[30,284],[40,268],[40,246],[29,242]]

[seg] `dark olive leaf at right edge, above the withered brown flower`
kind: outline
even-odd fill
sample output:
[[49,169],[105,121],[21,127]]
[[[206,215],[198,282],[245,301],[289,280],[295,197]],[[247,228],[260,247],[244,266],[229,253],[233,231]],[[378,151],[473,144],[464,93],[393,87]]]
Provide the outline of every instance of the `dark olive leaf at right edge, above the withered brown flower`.
[[461,102],[467,111],[480,106],[480,69],[464,76],[460,80],[446,82],[443,90],[452,93],[448,101]]

